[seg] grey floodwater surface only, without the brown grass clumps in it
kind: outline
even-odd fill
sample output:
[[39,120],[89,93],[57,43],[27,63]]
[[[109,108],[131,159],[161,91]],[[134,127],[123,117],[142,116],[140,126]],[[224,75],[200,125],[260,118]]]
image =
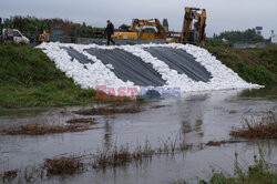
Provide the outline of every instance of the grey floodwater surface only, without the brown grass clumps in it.
[[[144,111],[133,114],[95,115],[95,130],[47,135],[0,134],[0,173],[40,166],[44,159],[62,155],[91,155],[114,145],[136,147],[147,141],[153,149],[164,142],[182,139],[187,144],[201,145],[209,141],[235,139],[229,135],[234,126],[242,126],[243,117],[260,119],[268,111],[277,113],[277,90],[229,90],[187,93],[178,100],[151,100],[140,104]],[[83,117],[72,111],[89,106],[38,108],[3,110],[0,129],[30,123],[63,124],[73,117]],[[88,116],[85,116],[88,117]],[[276,140],[244,140],[219,146],[195,146],[174,155],[154,155],[152,159],[125,166],[82,173],[35,178],[37,183],[172,183],[184,178],[208,178],[212,171],[233,174],[235,152],[247,168],[258,149],[265,160],[277,164]],[[0,181],[1,183],[2,181]],[[17,183],[17,182],[14,182]],[[35,182],[34,182],[35,183]]]

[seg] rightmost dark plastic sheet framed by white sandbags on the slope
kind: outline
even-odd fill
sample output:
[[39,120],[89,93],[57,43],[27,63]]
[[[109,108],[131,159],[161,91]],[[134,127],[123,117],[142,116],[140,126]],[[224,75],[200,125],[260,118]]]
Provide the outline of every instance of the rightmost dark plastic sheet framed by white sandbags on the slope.
[[212,74],[184,50],[162,47],[150,47],[144,50],[165,62],[170,69],[176,70],[179,74],[185,73],[194,81],[208,82],[212,78]]

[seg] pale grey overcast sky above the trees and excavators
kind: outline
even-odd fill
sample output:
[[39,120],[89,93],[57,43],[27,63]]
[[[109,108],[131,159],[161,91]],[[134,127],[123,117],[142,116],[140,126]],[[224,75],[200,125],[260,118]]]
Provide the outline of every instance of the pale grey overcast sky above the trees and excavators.
[[0,17],[62,18],[93,27],[105,27],[107,19],[119,27],[133,18],[167,18],[170,29],[179,31],[184,7],[207,10],[209,37],[257,25],[264,27],[266,38],[270,30],[277,32],[277,0],[1,0]]

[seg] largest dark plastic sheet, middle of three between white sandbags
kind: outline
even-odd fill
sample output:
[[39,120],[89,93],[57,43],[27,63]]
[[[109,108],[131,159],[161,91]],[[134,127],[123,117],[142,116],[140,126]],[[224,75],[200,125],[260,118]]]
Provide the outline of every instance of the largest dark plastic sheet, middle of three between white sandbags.
[[[141,58],[120,49],[88,49],[91,55],[96,57],[104,64],[112,64],[114,74],[124,82],[131,81],[141,86],[163,86],[165,81],[153,65],[145,63]],[[82,60],[79,60],[82,62]]]

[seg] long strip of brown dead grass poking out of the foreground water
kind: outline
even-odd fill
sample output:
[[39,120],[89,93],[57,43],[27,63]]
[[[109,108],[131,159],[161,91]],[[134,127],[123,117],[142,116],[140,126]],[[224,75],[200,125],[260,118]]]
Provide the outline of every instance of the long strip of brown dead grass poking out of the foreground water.
[[136,146],[134,149],[130,149],[129,144],[122,146],[114,145],[109,150],[99,151],[95,154],[45,159],[40,166],[32,166],[31,171],[29,171],[29,167],[6,171],[2,174],[0,173],[0,178],[12,182],[17,180],[16,183],[35,183],[53,175],[72,175],[83,173],[90,168],[104,170],[107,167],[126,166],[131,163],[141,163],[154,155],[174,155],[191,147],[192,145],[185,142],[177,144],[176,140],[164,142],[160,149],[152,149],[148,141],[146,141],[144,146]]

